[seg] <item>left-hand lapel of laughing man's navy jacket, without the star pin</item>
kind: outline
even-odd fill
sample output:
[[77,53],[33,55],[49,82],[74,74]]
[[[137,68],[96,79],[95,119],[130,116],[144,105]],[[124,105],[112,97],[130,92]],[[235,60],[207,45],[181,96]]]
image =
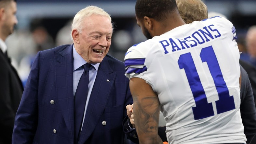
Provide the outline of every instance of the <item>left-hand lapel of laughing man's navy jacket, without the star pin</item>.
[[73,96],[73,45],[55,52],[56,90],[58,109],[61,111],[67,128],[74,137],[74,96]]

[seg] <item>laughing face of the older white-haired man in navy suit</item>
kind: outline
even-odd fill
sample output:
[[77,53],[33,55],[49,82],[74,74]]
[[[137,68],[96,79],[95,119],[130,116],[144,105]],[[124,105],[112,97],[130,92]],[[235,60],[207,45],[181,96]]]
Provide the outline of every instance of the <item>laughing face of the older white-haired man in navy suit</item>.
[[93,14],[83,20],[83,29],[79,32],[77,53],[87,63],[100,63],[109,52],[113,27],[106,16]]

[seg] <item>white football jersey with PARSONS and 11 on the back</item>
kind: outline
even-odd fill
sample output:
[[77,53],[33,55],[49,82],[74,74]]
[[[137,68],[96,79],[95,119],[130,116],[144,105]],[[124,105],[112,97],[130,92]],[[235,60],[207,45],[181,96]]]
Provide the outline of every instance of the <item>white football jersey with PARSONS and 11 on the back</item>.
[[158,94],[170,144],[246,143],[233,24],[212,17],[132,46],[126,77]]

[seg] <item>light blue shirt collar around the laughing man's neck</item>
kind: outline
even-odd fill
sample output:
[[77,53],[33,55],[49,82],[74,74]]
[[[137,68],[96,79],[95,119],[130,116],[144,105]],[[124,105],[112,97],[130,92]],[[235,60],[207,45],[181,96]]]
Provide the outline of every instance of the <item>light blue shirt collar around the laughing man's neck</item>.
[[[75,50],[75,46],[73,46],[73,57],[74,57],[74,67],[73,67],[73,71],[75,71],[76,69],[78,69],[79,67],[83,66],[84,64],[86,64],[86,61],[76,52]],[[94,66],[94,68],[96,69],[96,71],[98,71],[99,68],[99,64],[91,64],[92,66]]]

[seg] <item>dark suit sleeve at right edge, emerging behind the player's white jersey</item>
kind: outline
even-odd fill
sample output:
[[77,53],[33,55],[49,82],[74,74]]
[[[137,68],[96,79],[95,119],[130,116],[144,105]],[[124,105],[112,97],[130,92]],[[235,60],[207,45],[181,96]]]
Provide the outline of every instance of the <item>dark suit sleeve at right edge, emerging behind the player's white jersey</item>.
[[240,66],[242,83],[241,83],[241,118],[244,125],[244,133],[247,138],[247,144],[251,143],[256,134],[256,109],[252,93],[251,84],[246,71]]

